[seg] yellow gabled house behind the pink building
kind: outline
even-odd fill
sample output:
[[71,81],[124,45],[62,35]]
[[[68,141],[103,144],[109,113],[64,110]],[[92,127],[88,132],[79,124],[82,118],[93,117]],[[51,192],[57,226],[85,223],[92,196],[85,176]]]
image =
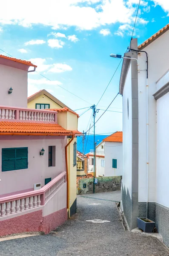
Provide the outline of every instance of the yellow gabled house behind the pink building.
[[[78,114],[68,108],[63,102],[60,102],[51,93],[46,90],[40,90],[32,96],[28,97],[28,108],[34,109],[50,109],[57,111],[57,122],[63,128],[74,131],[77,134],[78,125]],[[71,138],[67,139],[67,143],[71,141]],[[76,213],[77,202],[76,202],[76,175],[77,175],[77,138],[74,137],[73,141],[68,145],[67,163],[69,172],[69,199],[68,199],[68,216],[71,217]],[[73,159],[72,156],[73,155]]]

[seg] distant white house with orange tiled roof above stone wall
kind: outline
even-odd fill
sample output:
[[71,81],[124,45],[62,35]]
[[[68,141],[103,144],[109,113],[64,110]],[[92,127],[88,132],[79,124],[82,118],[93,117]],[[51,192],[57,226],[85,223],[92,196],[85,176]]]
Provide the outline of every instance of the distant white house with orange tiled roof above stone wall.
[[[117,131],[106,137],[96,147],[96,177],[122,175],[122,147],[123,132]],[[89,171],[94,169],[94,152],[91,150],[89,157]]]

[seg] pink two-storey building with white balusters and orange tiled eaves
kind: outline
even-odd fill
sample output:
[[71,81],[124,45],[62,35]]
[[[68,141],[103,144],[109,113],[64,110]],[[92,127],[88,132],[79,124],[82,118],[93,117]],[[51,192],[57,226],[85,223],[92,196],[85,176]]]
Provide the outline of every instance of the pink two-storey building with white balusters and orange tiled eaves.
[[0,236],[48,233],[67,219],[67,136],[77,131],[57,111],[26,108],[29,67],[0,55]]

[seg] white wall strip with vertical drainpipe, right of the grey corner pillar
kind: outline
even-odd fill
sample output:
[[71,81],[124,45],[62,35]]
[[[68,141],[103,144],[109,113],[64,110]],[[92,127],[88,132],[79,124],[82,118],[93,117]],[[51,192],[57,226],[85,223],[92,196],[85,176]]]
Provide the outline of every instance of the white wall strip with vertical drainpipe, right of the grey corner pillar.
[[[143,50],[149,55],[149,201],[156,201],[156,81],[169,69],[169,31]],[[139,201],[146,201],[146,55],[138,55],[138,103],[139,103]],[[163,152],[164,153],[164,152]]]

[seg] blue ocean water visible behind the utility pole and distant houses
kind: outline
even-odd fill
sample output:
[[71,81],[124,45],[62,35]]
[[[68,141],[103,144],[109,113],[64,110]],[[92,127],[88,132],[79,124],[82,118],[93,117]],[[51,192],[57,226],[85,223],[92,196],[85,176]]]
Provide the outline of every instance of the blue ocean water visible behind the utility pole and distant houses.
[[[97,145],[102,142],[104,138],[106,138],[108,135],[95,135],[95,142]],[[83,151],[83,143],[82,143],[82,137],[77,137],[77,150],[80,152]],[[84,140],[84,154],[87,154],[90,152],[90,149],[94,149],[94,135],[86,135]]]

